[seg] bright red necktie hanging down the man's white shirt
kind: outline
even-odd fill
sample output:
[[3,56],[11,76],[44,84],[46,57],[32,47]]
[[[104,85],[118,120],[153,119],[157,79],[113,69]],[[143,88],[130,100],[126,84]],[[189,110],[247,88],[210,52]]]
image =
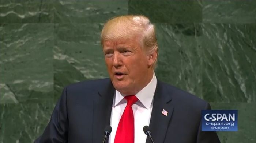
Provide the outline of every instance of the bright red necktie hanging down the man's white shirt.
[[135,95],[125,96],[127,105],[119,121],[114,143],[134,143],[134,117],[132,105],[138,101]]

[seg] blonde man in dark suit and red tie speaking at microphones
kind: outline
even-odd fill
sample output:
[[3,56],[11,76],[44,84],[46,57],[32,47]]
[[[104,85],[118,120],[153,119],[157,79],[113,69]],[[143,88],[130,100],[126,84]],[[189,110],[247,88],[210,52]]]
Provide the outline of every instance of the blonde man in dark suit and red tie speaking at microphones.
[[157,80],[154,25],[144,16],[120,16],[103,27],[101,44],[110,78],[64,88],[51,120],[36,143],[219,143],[201,131],[201,110],[210,105]]

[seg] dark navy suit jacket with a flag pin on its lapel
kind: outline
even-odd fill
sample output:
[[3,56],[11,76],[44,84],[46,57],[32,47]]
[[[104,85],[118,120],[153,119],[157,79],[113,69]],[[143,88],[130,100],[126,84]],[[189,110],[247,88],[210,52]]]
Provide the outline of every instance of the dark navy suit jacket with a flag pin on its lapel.
[[[65,87],[35,143],[102,143],[103,130],[110,124],[114,91],[109,78]],[[163,109],[167,116],[162,115]],[[216,132],[201,131],[203,109],[210,109],[206,101],[157,80],[150,119],[154,142],[219,143]]]

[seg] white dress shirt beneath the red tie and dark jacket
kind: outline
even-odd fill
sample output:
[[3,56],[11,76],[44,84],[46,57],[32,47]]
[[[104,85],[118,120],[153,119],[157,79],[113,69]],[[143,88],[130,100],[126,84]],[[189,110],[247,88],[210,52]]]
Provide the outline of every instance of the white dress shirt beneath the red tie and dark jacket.
[[[139,100],[132,105],[134,115],[134,143],[146,143],[147,136],[143,132],[143,127],[146,125],[149,126],[150,123],[153,97],[156,87],[157,78],[155,77],[154,72],[153,77],[147,86],[135,95]],[[124,99],[125,96],[126,95],[121,95],[117,90],[114,94],[110,118],[112,132],[109,135],[109,143],[114,143],[117,126],[127,105],[127,101]]]

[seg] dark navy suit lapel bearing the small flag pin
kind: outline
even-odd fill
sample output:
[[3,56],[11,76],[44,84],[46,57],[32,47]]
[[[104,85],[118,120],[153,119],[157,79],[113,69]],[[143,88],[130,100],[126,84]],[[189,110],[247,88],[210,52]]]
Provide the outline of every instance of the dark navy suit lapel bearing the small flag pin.
[[[152,132],[152,138],[154,142],[163,143],[166,132],[170,123],[170,118],[173,112],[173,106],[171,104],[171,96],[166,91],[163,83],[157,80],[157,87],[154,95],[153,109],[150,118],[150,129]],[[163,109],[167,111],[167,116],[162,115]],[[147,137],[146,143],[151,143]]]

